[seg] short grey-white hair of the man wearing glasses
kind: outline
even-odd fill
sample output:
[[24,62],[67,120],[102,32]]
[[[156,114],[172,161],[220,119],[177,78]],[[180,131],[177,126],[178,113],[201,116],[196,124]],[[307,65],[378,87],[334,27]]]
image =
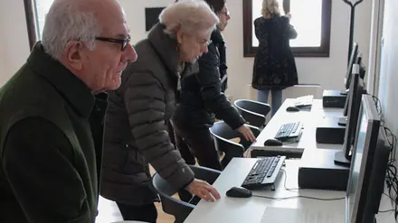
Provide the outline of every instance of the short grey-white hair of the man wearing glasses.
[[71,41],[85,42],[92,51],[100,25],[94,12],[82,10],[79,1],[55,0],[46,15],[42,44],[44,51],[60,60]]

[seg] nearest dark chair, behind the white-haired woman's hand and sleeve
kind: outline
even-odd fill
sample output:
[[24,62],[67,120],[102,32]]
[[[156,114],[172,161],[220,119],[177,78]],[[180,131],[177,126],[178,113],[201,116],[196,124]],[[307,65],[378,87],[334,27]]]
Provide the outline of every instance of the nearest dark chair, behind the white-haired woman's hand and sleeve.
[[[221,174],[219,171],[202,166],[189,165],[189,167],[194,172],[194,177],[196,179],[207,181],[210,184],[213,184]],[[184,222],[185,218],[188,217],[195,205],[172,197],[178,191],[173,189],[173,187],[157,172],[152,178],[152,186],[159,194],[163,211],[169,215],[173,215],[175,217],[175,223]],[[195,200],[195,198],[196,197],[192,200]]]

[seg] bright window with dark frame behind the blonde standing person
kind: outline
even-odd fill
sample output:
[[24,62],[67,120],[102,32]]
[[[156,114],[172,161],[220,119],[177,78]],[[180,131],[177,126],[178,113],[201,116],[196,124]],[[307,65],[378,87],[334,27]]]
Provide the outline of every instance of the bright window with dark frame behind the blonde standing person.
[[[331,0],[278,0],[289,5],[290,23],[299,33],[290,41],[296,57],[328,57],[330,49]],[[261,16],[262,0],[243,0],[244,57],[253,57],[259,42],[254,34],[254,20]]]

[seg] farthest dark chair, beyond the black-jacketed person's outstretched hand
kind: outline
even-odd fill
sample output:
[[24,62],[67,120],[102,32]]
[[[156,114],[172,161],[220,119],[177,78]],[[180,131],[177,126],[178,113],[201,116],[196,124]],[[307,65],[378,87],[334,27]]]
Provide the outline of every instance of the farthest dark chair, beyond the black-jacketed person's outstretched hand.
[[270,112],[270,105],[249,99],[236,100],[234,105],[250,125],[259,128],[266,125],[266,116]]

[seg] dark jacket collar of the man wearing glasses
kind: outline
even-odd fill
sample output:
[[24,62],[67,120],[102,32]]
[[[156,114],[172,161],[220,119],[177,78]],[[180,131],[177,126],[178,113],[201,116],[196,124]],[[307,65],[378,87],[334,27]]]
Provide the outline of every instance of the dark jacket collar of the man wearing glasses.
[[44,52],[41,42],[33,46],[27,60],[33,71],[50,82],[63,98],[74,107],[81,116],[88,118],[94,105],[90,89],[58,60]]

